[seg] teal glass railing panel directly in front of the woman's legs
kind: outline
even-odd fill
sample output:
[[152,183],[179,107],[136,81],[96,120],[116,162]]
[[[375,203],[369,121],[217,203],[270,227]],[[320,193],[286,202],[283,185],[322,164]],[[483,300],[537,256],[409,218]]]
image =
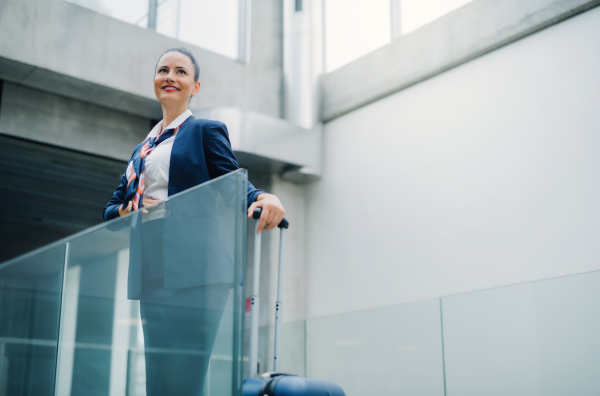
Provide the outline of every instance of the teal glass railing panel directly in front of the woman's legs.
[[68,243],[57,395],[232,395],[241,380],[246,173]]

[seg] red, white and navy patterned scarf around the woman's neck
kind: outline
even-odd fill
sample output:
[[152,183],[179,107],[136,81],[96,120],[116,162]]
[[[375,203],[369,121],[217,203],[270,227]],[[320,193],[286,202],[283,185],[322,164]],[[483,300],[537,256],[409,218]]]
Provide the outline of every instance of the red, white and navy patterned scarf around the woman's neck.
[[[185,121],[187,121],[187,118]],[[127,207],[129,201],[133,201],[133,209],[139,209],[145,190],[144,173],[146,157],[156,148],[156,146],[175,135],[185,121],[179,124],[177,128],[165,129],[159,133],[158,136],[148,138],[142,148],[134,154],[133,159],[127,166],[127,171],[125,172],[125,175],[127,176],[127,190],[125,191],[125,202],[123,203],[124,208]]]

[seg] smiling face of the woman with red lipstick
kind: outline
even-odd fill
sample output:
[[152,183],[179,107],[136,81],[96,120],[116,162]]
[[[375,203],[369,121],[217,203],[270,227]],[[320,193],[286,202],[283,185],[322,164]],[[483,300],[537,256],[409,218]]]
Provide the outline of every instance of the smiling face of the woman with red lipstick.
[[172,51],[158,61],[154,74],[154,94],[163,105],[179,105],[200,90],[194,81],[194,65],[187,55]]

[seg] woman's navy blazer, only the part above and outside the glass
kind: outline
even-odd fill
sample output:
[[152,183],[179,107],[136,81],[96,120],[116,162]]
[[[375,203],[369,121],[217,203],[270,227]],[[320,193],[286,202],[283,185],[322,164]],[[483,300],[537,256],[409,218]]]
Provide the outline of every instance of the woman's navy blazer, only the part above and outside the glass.
[[[131,158],[141,150],[144,142],[135,147]],[[190,116],[173,142],[168,195],[177,194],[236,169],[239,166],[231,149],[225,124]],[[104,208],[104,221],[119,217],[119,207],[125,200],[126,187],[127,177],[123,174],[121,184]],[[248,182],[248,207],[262,193],[263,190],[254,188]]]

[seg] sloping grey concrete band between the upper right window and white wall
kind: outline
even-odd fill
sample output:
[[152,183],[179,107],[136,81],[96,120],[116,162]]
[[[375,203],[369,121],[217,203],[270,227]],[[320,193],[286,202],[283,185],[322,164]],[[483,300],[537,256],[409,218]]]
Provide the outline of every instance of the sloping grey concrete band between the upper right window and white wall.
[[330,121],[598,4],[472,1],[323,76],[323,119]]

